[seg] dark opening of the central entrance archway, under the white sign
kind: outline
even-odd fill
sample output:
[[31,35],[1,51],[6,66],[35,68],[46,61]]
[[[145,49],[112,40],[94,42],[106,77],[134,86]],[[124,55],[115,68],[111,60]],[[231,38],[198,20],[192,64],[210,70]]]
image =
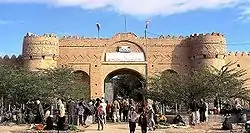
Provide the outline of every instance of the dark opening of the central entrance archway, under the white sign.
[[143,89],[145,84],[145,78],[138,71],[128,68],[117,69],[104,78],[104,97],[109,102],[118,97],[140,99],[140,89]]

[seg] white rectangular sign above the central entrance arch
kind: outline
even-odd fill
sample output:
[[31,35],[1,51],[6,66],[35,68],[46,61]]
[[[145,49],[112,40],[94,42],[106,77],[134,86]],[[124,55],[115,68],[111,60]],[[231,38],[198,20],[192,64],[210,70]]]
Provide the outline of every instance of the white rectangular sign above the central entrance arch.
[[145,61],[143,53],[106,53],[107,62],[140,62]]

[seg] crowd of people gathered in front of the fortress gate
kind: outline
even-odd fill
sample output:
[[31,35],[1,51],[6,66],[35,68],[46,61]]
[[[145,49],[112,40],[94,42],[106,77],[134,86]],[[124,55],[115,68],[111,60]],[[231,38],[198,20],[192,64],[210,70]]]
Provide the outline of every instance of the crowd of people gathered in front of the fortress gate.
[[[97,98],[90,101],[58,99],[56,104],[45,105],[39,100],[27,104],[25,108],[17,108],[15,105],[5,112],[1,122],[12,121],[17,124],[40,124],[45,125],[45,130],[68,130],[71,125],[85,126],[96,123],[97,130],[104,130],[107,122],[119,123],[128,122],[130,133],[134,133],[137,123],[141,132],[155,130],[159,122],[166,123],[164,114],[159,115],[159,106],[143,102],[135,102],[133,99],[117,98],[108,102],[104,98]],[[229,104],[225,105],[229,108]],[[237,103],[236,111],[239,112],[240,104]],[[191,124],[196,125],[208,120],[209,105],[204,99],[197,101],[193,99],[190,103]],[[229,110],[229,109],[228,109]],[[232,110],[232,109],[230,109]],[[227,111],[230,112],[230,111]],[[182,117],[177,115],[172,124],[183,124]]]

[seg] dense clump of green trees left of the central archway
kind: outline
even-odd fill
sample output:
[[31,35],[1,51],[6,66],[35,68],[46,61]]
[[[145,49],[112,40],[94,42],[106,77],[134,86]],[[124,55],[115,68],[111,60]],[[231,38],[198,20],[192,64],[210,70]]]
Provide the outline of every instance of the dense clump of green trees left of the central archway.
[[55,98],[89,98],[88,86],[79,82],[72,69],[49,69],[31,72],[21,67],[0,65],[0,96],[5,101],[24,104],[40,99],[51,103]]

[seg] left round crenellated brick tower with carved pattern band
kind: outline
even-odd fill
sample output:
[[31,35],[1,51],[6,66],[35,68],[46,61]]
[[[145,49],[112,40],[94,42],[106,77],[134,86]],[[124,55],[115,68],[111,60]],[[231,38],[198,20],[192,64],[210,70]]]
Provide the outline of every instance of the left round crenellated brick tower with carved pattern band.
[[27,33],[23,40],[24,67],[37,71],[57,67],[59,38],[54,34],[37,36]]

